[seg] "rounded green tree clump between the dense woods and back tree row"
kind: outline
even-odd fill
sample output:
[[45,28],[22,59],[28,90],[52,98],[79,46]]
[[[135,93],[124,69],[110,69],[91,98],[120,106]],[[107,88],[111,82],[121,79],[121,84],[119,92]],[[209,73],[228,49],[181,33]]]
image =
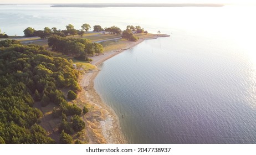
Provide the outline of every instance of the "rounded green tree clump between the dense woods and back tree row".
[[53,35],[48,39],[49,47],[54,51],[63,54],[73,55],[76,59],[86,60],[86,56],[93,56],[95,53],[103,53],[103,46],[98,43],[92,43],[88,39],[81,38],[64,38]]

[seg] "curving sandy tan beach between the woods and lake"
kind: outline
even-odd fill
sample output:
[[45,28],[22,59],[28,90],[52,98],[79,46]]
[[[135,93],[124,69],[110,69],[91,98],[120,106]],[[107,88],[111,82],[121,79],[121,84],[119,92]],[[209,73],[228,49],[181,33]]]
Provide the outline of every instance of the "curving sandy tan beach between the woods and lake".
[[[150,38],[139,39],[137,42],[127,42],[127,46],[123,49],[115,49],[106,53],[94,56],[91,64],[96,66],[96,69],[83,74],[80,79],[82,91],[79,94],[80,107],[86,105],[89,112],[83,115],[82,118],[86,123],[86,133],[83,140],[88,143],[127,143],[124,135],[121,132],[118,118],[115,112],[101,101],[100,96],[94,90],[94,79],[99,73],[98,66],[105,60],[110,59],[126,49],[130,49],[137,44],[140,44],[145,39],[156,39],[158,37],[168,37],[169,35],[154,35]],[[86,104],[85,104],[86,103]]]

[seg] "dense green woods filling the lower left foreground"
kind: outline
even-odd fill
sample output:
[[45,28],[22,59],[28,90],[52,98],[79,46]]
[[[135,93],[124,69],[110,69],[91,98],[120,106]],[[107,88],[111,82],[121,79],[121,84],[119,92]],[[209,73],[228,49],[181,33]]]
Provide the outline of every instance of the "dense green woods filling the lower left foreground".
[[[53,109],[55,115],[81,115],[82,110],[68,104],[60,91],[63,87],[80,91],[77,79],[78,71],[73,64],[52,56],[42,46],[21,45],[17,40],[0,41],[0,142],[55,143],[37,125],[42,112],[33,104],[40,101],[42,106],[58,105]],[[76,131],[79,127],[73,128]]]

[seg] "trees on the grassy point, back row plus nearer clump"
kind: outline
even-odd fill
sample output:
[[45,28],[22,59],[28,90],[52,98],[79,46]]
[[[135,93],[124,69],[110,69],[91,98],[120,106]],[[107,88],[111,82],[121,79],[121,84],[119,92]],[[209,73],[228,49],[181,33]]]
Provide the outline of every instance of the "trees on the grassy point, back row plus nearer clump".
[[[45,27],[44,30],[35,30],[28,27],[23,32],[25,37],[40,37],[42,39],[48,39],[48,45],[53,51],[59,51],[63,54],[74,56],[77,60],[91,61],[87,56],[98,55],[103,53],[103,46],[98,43],[92,43],[88,39],[84,38],[67,38],[67,36],[80,35],[83,37],[85,33],[91,29],[91,26],[87,23],[81,25],[80,30],[76,30],[72,24],[66,25],[66,29],[58,30],[57,28]],[[127,25],[126,30],[122,31],[119,27],[112,26],[109,28],[101,28],[100,25],[94,25],[94,32],[102,32],[104,34],[122,34],[122,38],[136,42],[138,40],[134,33],[145,33],[140,26],[134,27],[133,25]]]

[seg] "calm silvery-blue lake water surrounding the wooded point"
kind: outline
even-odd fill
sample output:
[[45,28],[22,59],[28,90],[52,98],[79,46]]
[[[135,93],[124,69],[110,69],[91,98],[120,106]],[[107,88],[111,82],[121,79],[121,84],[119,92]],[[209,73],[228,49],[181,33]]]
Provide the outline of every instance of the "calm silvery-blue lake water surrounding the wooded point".
[[105,61],[94,81],[129,143],[256,143],[255,14],[248,6],[0,6],[0,29],[89,23],[170,34]]

